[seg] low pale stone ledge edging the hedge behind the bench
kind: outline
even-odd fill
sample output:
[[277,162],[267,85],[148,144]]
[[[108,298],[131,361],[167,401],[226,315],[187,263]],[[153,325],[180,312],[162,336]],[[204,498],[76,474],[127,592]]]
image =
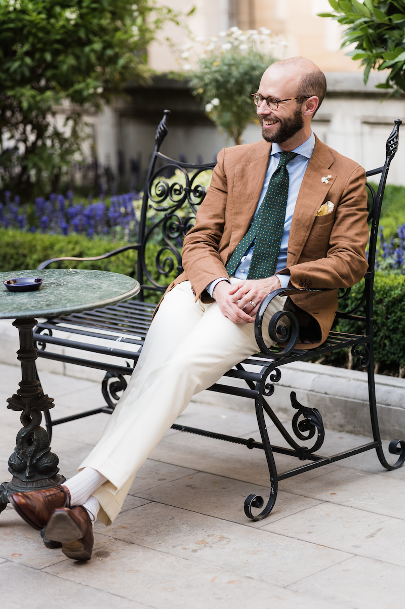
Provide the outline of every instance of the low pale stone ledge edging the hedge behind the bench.
[[[11,320],[1,320],[0,362],[20,365],[15,356],[17,349],[18,333],[16,329],[12,326]],[[58,349],[63,351],[61,347]],[[79,351],[71,349],[66,350],[66,353],[74,353],[77,356]],[[110,359],[108,356],[103,356],[103,358]],[[122,360],[120,364],[122,364]],[[102,370],[92,370],[45,359],[38,359],[38,371],[40,373],[41,371],[54,372],[99,382],[104,377]],[[276,414],[283,420],[290,420],[295,412],[290,405],[290,392],[295,391],[301,404],[320,410],[327,428],[359,435],[371,435],[366,373],[308,362],[287,364],[281,367],[281,371],[281,380],[275,384],[276,389],[269,401]],[[376,375],[375,381],[382,437],[388,440],[404,438],[405,379]],[[246,386],[237,379],[223,378],[221,382]],[[253,400],[207,390],[195,395],[193,401],[236,410],[254,410]]]

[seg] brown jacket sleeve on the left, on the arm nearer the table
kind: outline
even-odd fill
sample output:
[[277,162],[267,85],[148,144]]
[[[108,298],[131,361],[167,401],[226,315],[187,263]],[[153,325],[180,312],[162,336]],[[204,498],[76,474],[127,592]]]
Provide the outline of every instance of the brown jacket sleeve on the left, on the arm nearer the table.
[[223,236],[228,200],[226,150],[222,149],[213,169],[206,197],[199,206],[195,226],[188,231],[182,248],[182,265],[196,298],[218,277],[229,277],[218,247]]

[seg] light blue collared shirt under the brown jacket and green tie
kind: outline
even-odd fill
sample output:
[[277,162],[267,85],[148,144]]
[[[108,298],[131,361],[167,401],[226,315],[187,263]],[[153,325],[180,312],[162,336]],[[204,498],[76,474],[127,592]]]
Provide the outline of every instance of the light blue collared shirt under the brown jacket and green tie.
[[[311,131],[311,135],[309,136],[309,138],[303,144],[301,144],[301,146],[296,147],[292,151],[292,152],[296,152],[298,156],[293,158],[293,160],[290,161],[289,164],[287,164],[287,171],[289,172],[289,195],[287,197],[287,208],[285,209],[284,229],[282,231],[280,253],[279,253],[277,266],[276,266],[276,273],[275,273],[275,275],[280,280],[281,287],[287,287],[287,285],[289,284],[289,281],[290,281],[290,275],[278,275],[278,271],[285,269],[285,265],[287,264],[287,248],[289,245],[290,228],[291,228],[291,222],[293,219],[295,203],[296,203],[296,200],[298,197],[299,189],[301,188],[301,183],[303,181],[303,177],[306,172],[309,159],[314,150],[314,146],[315,146],[315,135]],[[265,180],[263,183],[262,194],[260,194],[260,199],[259,199],[259,202],[257,203],[257,208],[254,213],[255,216],[257,214],[257,211],[259,211],[260,205],[262,205],[262,201],[267,192],[268,183],[270,182],[270,178],[274,174],[274,171],[276,171],[276,168],[279,164],[281,152],[282,152],[282,150],[278,144],[273,144],[273,146],[271,146],[270,161],[268,163],[268,169],[267,169],[266,177],[265,177]],[[234,276],[237,279],[243,280],[243,279],[247,278],[249,266],[250,266],[252,255],[253,255],[253,250],[254,250],[254,244],[251,245],[248,253],[246,253],[246,256],[243,256],[241,258],[240,265],[238,266],[238,268],[235,270],[235,273],[234,273]],[[212,281],[207,286],[207,288],[206,288],[207,292],[209,293],[209,295],[211,297],[212,297],[212,292],[213,292],[214,287],[217,285],[217,283],[219,281],[223,281],[223,280],[227,281],[226,277],[220,277],[220,278]]]

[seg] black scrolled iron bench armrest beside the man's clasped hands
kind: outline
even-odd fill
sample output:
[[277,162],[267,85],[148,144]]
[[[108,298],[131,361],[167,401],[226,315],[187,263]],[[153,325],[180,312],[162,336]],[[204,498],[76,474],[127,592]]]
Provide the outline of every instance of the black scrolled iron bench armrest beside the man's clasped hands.
[[[329,292],[330,288],[324,289],[316,289],[311,287],[280,287],[277,290],[273,290],[270,292],[262,301],[259,311],[256,315],[256,320],[254,321],[254,336],[256,338],[257,345],[261,351],[261,353],[267,353],[274,357],[274,359],[280,359],[281,357],[286,357],[291,353],[296,343],[299,340],[299,324],[295,315],[292,311],[278,311],[274,313],[273,317],[271,317],[270,323],[268,325],[268,334],[271,340],[274,340],[276,343],[287,343],[287,345],[282,349],[282,351],[270,351],[263,340],[263,319],[265,311],[270,305],[273,298],[276,296],[289,296],[290,294],[302,294],[303,292]],[[282,317],[287,317],[290,320],[290,327],[281,325],[277,326],[279,320]]]

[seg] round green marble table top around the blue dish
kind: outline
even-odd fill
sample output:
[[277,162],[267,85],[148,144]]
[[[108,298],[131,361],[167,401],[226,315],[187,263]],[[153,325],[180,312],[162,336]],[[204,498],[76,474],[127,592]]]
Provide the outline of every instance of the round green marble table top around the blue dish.
[[[3,281],[40,277],[34,292],[9,292]],[[55,317],[114,305],[138,294],[138,281],[104,270],[43,269],[0,273],[0,319]]]

